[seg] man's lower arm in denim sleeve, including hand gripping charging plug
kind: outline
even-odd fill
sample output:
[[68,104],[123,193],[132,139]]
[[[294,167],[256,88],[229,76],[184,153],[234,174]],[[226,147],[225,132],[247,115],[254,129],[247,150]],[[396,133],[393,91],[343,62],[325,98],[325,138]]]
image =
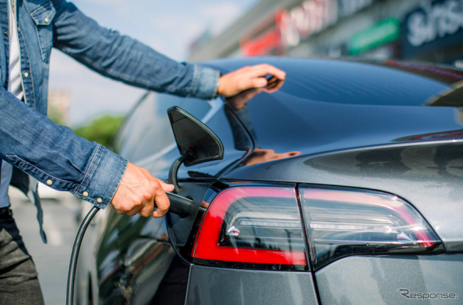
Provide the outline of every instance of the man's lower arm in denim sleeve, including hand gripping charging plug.
[[0,120],[0,157],[43,184],[100,208],[112,202],[119,213],[148,216],[155,202],[160,209],[153,216],[167,211],[163,188],[172,191],[173,186],[105,147],[75,136],[3,88]]

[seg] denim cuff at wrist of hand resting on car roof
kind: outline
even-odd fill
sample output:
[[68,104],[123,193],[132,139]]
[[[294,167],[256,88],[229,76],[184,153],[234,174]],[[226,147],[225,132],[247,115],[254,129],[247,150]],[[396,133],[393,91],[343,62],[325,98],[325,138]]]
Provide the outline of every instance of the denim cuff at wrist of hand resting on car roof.
[[215,98],[219,87],[219,77],[219,71],[195,65],[193,69],[193,88],[190,95],[203,99]]

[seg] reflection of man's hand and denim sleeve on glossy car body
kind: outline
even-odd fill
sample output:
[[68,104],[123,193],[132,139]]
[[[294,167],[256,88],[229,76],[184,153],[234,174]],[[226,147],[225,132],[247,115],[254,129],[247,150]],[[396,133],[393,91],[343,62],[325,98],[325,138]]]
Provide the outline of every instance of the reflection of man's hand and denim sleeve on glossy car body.
[[[255,147],[254,150],[243,160],[243,165],[258,164],[300,155],[300,151],[276,153],[273,149],[259,148],[257,135],[255,134],[255,130],[249,116],[249,111],[246,106],[246,103],[256,94],[261,92],[273,93],[279,90],[282,85],[282,81],[272,78],[269,80],[269,84],[266,87],[249,89],[233,97],[227,98],[227,105],[232,109],[233,114],[240,120],[240,122],[238,122],[230,111],[225,111],[233,132],[235,148],[250,152],[251,149]],[[247,132],[249,132],[252,139],[249,139],[246,131],[244,131],[240,126],[241,124],[246,127]],[[252,141],[254,144],[252,144]]]

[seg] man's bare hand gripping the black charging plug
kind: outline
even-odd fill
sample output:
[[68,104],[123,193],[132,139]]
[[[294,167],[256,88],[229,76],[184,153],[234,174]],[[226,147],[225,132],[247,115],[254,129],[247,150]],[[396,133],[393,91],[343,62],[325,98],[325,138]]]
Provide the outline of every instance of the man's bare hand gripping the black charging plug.
[[[162,217],[170,205],[165,192],[173,190],[173,185],[166,184],[146,169],[129,162],[111,204],[118,214],[133,216],[138,213],[144,217],[151,214],[152,217]],[[155,206],[157,209],[153,212]]]

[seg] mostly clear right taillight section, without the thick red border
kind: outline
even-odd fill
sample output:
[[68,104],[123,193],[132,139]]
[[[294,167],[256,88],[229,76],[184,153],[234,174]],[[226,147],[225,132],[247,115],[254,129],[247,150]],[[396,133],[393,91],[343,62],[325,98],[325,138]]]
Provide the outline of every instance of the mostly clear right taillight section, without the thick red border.
[[423,217],[396,196],[309,187],[299,191],[316,269],[349,255],[442,249]]

